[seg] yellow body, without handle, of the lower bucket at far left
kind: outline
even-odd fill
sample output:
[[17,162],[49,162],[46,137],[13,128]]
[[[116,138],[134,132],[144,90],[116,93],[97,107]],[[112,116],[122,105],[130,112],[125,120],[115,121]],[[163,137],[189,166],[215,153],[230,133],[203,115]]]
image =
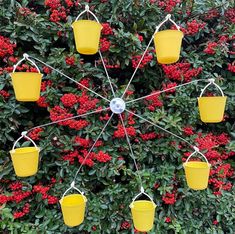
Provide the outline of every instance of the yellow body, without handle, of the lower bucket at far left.
[[38,171],[38,147],[24,147],[10,151],[15,173],[19,177],[35,175]]

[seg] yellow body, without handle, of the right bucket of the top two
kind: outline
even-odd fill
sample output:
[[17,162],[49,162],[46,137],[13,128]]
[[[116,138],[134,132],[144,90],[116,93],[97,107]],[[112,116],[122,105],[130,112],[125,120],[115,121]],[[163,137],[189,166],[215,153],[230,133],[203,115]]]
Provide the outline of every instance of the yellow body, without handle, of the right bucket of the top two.
[[163,30],[155,33],[154,45],[159,63],[171,64],[179,60],[183,36],[183,32],[179,30]]

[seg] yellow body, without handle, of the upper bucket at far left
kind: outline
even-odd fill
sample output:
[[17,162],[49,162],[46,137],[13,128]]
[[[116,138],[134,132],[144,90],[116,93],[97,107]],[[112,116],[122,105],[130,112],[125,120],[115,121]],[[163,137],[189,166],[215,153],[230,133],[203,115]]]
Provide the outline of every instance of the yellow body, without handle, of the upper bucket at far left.
[[13,72],[10,74],[17,101],[33,102],[40,97],[42,74]]

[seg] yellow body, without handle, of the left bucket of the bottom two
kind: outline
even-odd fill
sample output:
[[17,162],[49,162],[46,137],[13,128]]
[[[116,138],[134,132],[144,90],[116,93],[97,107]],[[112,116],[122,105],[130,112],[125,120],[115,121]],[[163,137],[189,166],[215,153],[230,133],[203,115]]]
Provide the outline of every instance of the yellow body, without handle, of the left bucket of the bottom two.
[[86,197],[82,194],[71,194],[60,200],[64,223],[75,227],[80,225],[85,216]]

